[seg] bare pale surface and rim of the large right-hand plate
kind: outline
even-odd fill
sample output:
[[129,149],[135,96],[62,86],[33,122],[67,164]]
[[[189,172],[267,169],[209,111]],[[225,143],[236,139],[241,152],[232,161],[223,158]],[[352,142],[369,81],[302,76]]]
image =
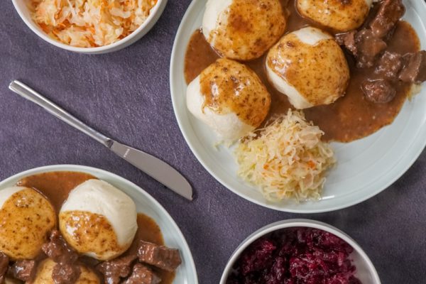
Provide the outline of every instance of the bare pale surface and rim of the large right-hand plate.
[[[319,202],[271,203],[261,193],[236,175],[237,165],[229,149],[214,148],[217,137],[197,121],[185,103],[187,84],[184,61],[187,43],[200,28],[207,0],[195,0],[180,23],[170,64],[170,88],[173,108],[180,130],[192,153],[214,178],[237,195],[264,207],[285,212],[328,212],[357,204],[378,194],[398,180],[417,160],[426,145],[426,88],[406,102],[391,126],[367,138],[351,143],[333,143],[337,168],[331,171]],[[405,0],[405,20],[409,21],[426,49],[425,1]]]

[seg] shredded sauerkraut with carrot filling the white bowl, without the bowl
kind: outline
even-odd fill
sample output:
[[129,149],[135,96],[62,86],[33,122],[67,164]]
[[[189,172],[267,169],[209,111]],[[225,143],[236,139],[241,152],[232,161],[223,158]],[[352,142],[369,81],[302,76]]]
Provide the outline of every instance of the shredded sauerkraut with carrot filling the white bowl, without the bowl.
[[30,0],[50,37],[81,48],[109,45],[146,21],[157,0]]

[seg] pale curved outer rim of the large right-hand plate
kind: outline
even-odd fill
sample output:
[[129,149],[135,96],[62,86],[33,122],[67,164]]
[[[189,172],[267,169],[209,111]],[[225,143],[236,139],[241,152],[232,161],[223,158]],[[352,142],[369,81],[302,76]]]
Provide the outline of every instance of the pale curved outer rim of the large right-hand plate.
[[[207,0],[202,0],[204,2],[206,2]],[[180,25],[178,28],[178,32],[175,35],[175,40],[173,42],[173,49],[172,49],[172,53],[170,55],[170,96],[172,99],[172,104],[173,104],[173,112],[175,114],[175,118],[178,121],[178,126],[180,129],[180,132],[182,133],[182,136],[185,138],[185,142],[187,143],[187,146],[190,148],[191,152],[193,155],[195,155],[195,158],[197,158],[198,162],[203,166],[203,168],[205,170],[207,170],[207,172],[212,175],[212,177],[217,180],[222,186],[224,186],[226,188],[226,190],[230,190],[231,192],[234,192],[234,194],[238,195],[239,197],[244,198],[244,200],[248,200],[249,202],[252,202],[254,204],[257,204],[261,207],[265,207],[268,209],[273,209],[276,211],[280,211],[280,212],[288,212],[288,213],[297,213],[297,214],[315,214],[315,213],[324,213],[324,212],[334,212],[340,209],[345,209],[345,208],[349,208],[352,207],[356,204],[360,204],[366,200],[369,200],[370,198],[378,195],[379,193],[383,192],[384,190],[386,190],[388,187],[390,187],[391,185],[393,185],[394,182],[396,182],[397,180],[399,180],[405,173],[407,173],[407,171],[411,168],[411,166],[415,163],[415,161],[420,157],[421,153],[425,150],[426,148],[426,124],[423,124],[422,129],[419,129],[419,131],[417,132],[417,135],[414,136],[413,139],[413,145],[417,145],[417,147],[412,147],[412,148],[408,148],[407,151],[405,152],[405,155],[408,155],[407,152],[413,152],[414,153],[411,154],[411,158],[409,160],[406,160],[405,165],[403,165],[403,167],[401,168],[401,170],[399,171],[398,174],[395,174],[392,178],[390,178],[387,182],[383,182],[383,185],[381,185],[380,187],[377,187],[377,190],[373,190],[371,193],[364,195],[363,197],[360,198],[356,198],[355,200],[351,200],[349,202],[344,202],[342,204],[334,204],[332,206],[329,206],[327,208],[324,209],[291,209],[291,208],[287,208],[287,207],[282,207],[280,206],[280,204],[273,204],[270,202],[267,202],[266,200],[261,202],[258,201],[256,199],[253,199],[247,195],[244,195],[243,193],[234,190],[234,188],[231,185],[228,185],[228,183],[224,180],[224,178],[220,178],[219,175],[217,175],[216,173],[214,173],[214,170],[209,167],[207,165],[207,163],[205,163],[205,161],[202,159],[200,153],[198,153],[198,151],[196,150],[195,144],[192,143],[192,140],[190,138],[189,135],[189,129],[184,127],[184,123],[183,123],[183,119],[180,116],[180,114],[178,114],[178,102],[177,102],[177,98],[178,98],[178,91],[176,90],[176,86],[175,86],[175,77],[177,77],[177,74],[175,72],[175,68],[176,68],[176,63],[175,61],[177,60],[177,53],[178,53],[178,46],[180,46],[180,43],[178,43],[178,40],[180,38],[182,38],[184,35],[183,33],[185,33],[185,26],[187,21],[189,21],[190,19],[190,13],[192,13],[192,10],[195,9],[195,5],[198,3],[201,3],[202,1],[199,0],[192,0],[191,4],[187,7],[187,10],[185,11],[185,15],[183,16],[182,20],[180,21]],[[411,2],[411,1],[410,1]],[[417,3],[416,3],[417,5]],[[426,9],[426,2],[422,2],[420,3],[420,5],[422,5],[425,9]],[[421,39],[420,39],[421,40]],[[187,43],[185,43],[187,45]],[[186,83],[185,83],[186,84]],[[425,88],[426,89],[426,83],[424,83],[422,85],[422,89]],[[407,103],[407,102],[405,102]],[[388,127],[388,126],[384,126],[384,127]],[[235,178],[238,178],[237,175],[235,175]]]

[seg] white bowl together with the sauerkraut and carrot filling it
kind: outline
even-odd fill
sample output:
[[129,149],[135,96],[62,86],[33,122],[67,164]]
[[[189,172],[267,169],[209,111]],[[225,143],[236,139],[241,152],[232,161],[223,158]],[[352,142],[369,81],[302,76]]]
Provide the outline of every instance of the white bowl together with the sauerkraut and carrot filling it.
[[40,38],[77,53],[110,53],[143,37],[167,0],[12,0]]

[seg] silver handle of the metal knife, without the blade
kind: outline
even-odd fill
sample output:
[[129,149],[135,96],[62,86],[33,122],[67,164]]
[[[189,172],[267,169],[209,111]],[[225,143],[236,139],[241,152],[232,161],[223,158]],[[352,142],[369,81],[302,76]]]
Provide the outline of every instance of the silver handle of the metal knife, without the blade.
[[88,136],[94,138],[94,140],[104,144],[104,146],[107,146],[108,148],[111,147],[112,140],[110,138],[87,126],[82,121],[75,118],[75,116],[72,116],[72,114],[65,111],[65,109],[58,107],[58,105],[50,102],[50,100],[43,97],[43,95],[35,92],[35,90],[31,89],[26,84],[23,84],[23,82],[13,80],[11,84],[9,84],[9,89],[11,89],[13,92],[16,92],[16,94],[19,94],[21,97],[38,104],[38,106],[45,109],[45,111],[48,111],[50,114],[58,117],[58,119],[65,121],[75,129],[86,133]]

